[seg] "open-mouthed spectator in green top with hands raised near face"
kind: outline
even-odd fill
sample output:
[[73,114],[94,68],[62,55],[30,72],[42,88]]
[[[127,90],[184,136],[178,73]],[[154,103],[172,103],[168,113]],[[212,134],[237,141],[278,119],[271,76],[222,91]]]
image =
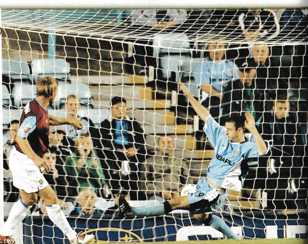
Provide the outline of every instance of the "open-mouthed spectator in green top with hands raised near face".
[[93,141],[88,134],[77,136],[75,152],[65,160],[69,196],[76,196],[83,188],[93,187],[99,196],[105,176],[99,158],[93,151]]

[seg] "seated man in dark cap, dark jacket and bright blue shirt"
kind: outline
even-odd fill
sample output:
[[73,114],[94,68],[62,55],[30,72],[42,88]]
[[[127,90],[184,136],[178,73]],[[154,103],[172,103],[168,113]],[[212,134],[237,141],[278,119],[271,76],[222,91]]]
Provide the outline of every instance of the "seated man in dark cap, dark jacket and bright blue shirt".
[[95,136],[95,147],[101,149],[99,158],[106,158],[103,165],[112,189],[122,187],[131,199],[137,199],[138,164],[145,160],[145,136],[140,124],[127,115],[126,100],[115,96],[111,99],[111,117],[104,120]]

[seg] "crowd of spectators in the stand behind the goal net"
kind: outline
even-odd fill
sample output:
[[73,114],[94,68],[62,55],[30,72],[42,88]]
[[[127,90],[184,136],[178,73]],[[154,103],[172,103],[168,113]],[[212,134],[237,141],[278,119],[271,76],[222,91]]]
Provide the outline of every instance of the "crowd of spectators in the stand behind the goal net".
[[[300,111],[306,111],[307,107],[300,91],[296,94],[293,92],[296,89],[292,88],[307,88],[304,85],[305,82],[307,84],[307,70],[300,69],[298,72],[296,69],[307,65],[306,46],[269,46],[259,42],[277,36],[292,38],[288,31],[305,28],[302,23],[307,23],[306,15],[301,10],[285,10],[279,21],[272,10],[235,13],[207,10],[199,13],[197,21],[192,24],[198,14],[197,10],[193,11],[134,11],[130,28],[149,33],[173,31],[186,34],[195,30],[220,31],[223,28],[221,31],[231,36],[243,34],[243,40],[248,43],[258,41],[257,44],[241,45],[213,41],[205,45],[202,52],[191,56],[197,62],[196,67],[188,72],[183,67],[181,81],[193,84],[190,92],[209,108],[210,114],[221,125],[230,114],[251,112],[262,138],[272,142],[270,152],[258,159],[255,170],[248,172],[244,188],[267,191],[268,209],[305,208],[295,203],[292,183],[299,188],[303,178],[303,156],[307,143],[306,128],[302,125],[307,124],[307,116]],[[293,20],[300,24],[292,26]],[[137,40],[136,43],[144,44],[144,41]],[[175,75],[168,78],[162,75],[164,71],[159,57],[153,57],[151,43],[135,45],[134,48],[136,53],[133,58],[127,59],[128,63],[135,64],[132,65],[132,73],[145,75],[151,65],[158,70],[154,82],[172,84],[176,81],[173,80]],[[304,57],[304,61],[298,62],[292,55]],[[290,69],[291,64],[294,69]],[[284,68],[289,71],[284,72]],[[6,82],[6,78],[3,78],[3,84],[10,91],[13,84]],[[189,109],[190,104],[182,98],[179,95],[176,109],[193,117],[195,114]],[[59,197],[63,209],[69,202],[75,206],[72,216],[100,218],[103,212],[95,209],[96,198],[117,203],[119,190],[127,191],[131,200],[157,199],[164,202],[174,194],[179,195],[186,184],[193,182],[189,165],[174,155],[174,138],[171,135],[160,135],[154,151],[150,152],[146,147],[147,132],[138,121],[127,115],[127,101],[120,96],[112,96],[110,103],[110,118],[96,128],[91,118],[78,116],[80,98],[67,96],[64,104],[66,118],[81,120],[83,128],[77,130],[72,125],[63,125],[49,134],[50,146],[43,159],[52,167],[45,178]],[[12,185],[7,163],[18,125],[18,120],[10,122],[7,128],[9,139],[3,145],[6,202],[18,199],[18,189]],[[199,142],[198,150],[209,149],[203,126],[200,121],[199,130],[194,135]],[[274,171],[269,171],[269,162],[274,162]],[[40,201],[40,213],[46,214],[42,205]],[[113,214],[116,209],[111,208],[105,214]]]

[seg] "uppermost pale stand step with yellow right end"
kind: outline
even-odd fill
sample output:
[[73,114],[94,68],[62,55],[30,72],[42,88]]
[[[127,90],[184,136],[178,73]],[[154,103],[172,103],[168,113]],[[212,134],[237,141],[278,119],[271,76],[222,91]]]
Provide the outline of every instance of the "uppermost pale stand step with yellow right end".
[[118,84],[145,84],[148,77],[137,75],[79,75],[71,76],[71,83],[86,83],[91,89],[91,85],[118,85]]

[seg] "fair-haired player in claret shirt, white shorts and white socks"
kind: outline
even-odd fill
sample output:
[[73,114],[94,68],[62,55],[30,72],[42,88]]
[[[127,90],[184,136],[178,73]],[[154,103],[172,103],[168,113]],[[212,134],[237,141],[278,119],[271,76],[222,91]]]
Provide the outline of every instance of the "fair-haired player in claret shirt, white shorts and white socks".
[[20,126],[10,152],[9,166],[13,185],[19,189],[20,199],[14,204],[6,223],[0,230],[0,243],[14,244],[11,237],[14,228],[26,217],[26,212],[40,196],[46,204],[48,217],[67,236],[70,243],[89,243],[94,235],[77,234],[60,210],[55,191],[43,174],[51,166],[42,158],[49,145],[49,125],[71,124],[82,128],[80,120],[67,120],[48,115],[47,106],[58,92],[58,81],[42,77],[36,83],[36,99],[26,104],[20,119]]

